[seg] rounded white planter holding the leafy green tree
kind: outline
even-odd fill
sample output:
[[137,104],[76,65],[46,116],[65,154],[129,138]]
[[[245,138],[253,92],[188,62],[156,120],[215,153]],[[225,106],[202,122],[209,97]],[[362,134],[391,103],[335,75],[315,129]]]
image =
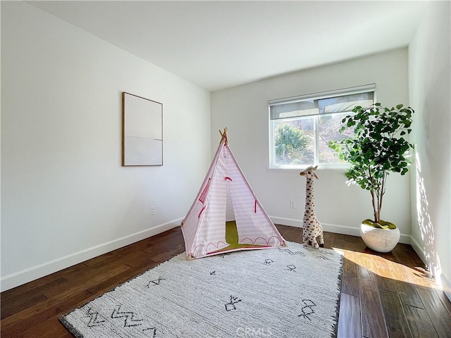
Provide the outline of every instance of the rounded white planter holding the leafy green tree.
[[395,249],[401,233],[397,227],[385,230],[362,223],[360,225],[360,235],[369,249],[378,252],[390,252]]

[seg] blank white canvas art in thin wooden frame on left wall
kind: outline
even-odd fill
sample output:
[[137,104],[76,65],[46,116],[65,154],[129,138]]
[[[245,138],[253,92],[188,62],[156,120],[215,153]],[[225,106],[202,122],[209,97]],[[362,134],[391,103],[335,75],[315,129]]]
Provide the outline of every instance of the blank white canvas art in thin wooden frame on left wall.
[[122,165],[163,165],[163,104],[122,93]]

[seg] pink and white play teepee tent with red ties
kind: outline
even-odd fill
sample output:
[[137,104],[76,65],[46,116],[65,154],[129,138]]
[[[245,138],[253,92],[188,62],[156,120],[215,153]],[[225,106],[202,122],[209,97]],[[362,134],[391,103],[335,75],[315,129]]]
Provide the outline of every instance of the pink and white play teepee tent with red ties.
[[[285,246],[230,151],[227,128],[219,132],[221,142],[213,162],[180,225],[187,258]],[[226,234],[226,223],[228,232],[237,232],[236,242]]]

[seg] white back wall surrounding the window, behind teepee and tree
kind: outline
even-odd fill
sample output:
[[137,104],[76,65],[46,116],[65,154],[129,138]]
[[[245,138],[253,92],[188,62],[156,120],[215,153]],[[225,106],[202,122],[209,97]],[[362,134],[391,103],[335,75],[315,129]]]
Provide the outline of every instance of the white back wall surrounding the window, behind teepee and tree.
[[[211,132],[214,151],[218,129],[228,127],[230,147],[249,183],[275,223],[301,226],[305,179],[299,170],[268,170],[268,100],[376,83],[383,105],[409,104],[407,49],[325,65],[273,77],[211,94]],[[328,231],[358,235],[358,226],[372,218],[371,196],[347,187],[341,170],[321,170],[315,181],[316,215]],[[411,212],[409,174],[392,174],[382,218],[400,227],[401,241],[409,243]],[[295,199],[297,208],[290,208]]]

